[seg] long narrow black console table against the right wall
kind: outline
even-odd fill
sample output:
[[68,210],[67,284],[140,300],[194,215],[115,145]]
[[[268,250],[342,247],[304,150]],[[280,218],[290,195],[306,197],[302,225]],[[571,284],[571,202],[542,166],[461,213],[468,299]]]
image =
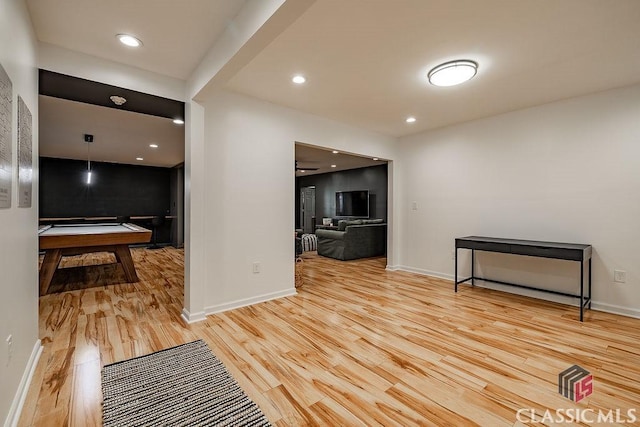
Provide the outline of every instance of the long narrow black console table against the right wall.
[[[471,277],[458,280],[458,249],[471,250]],[[504,254],[526,255],[542,258],[554,258],[567,261],[580,262],[580,295],[566,292],[541,289],[528,285],[507,283],[499,280],[492,280],[475,275],[475,251],[499,252]],[[498,283],[501,285],[517,286],[520,288],[533,289],[536,291],[549,292],[556,295],[563,295],[573,298],[580,298],[580,321],[583,321],[584,308],[591,308],[591,245],[581,245],[576,243],[555,243],[539,242],[535,240],[501,239],[495,237],[468,236],[456,238],[455,250],[455,291],[458,292],[460,283],[471,280],[483,280],[485,282]],[[589,264],[587,278],[587,292],[585,293],[584,263]]]

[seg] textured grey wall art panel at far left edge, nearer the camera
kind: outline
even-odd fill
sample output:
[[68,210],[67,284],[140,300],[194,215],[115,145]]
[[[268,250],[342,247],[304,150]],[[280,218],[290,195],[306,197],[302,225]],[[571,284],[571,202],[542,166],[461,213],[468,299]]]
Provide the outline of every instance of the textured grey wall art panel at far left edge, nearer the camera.
[[0,65],[0,208],[11,207],[11,79]]

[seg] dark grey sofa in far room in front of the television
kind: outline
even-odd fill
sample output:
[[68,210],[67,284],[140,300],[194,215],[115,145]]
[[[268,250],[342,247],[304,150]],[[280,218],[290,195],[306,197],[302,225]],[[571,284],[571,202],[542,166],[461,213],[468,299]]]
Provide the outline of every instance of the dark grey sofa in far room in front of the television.
[[387,248],[382,219],[338,221],[338,230],[316,230],[318,255],[342,261],[381,256]]

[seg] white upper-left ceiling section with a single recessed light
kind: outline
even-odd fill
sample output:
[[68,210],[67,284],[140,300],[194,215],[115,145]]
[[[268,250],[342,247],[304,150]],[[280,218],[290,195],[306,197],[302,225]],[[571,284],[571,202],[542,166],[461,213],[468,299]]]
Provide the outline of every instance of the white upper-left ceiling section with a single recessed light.
[[[186,80],[245,0],[27,0],[38,40]],[[142,49],[116,34],[131,34]]]

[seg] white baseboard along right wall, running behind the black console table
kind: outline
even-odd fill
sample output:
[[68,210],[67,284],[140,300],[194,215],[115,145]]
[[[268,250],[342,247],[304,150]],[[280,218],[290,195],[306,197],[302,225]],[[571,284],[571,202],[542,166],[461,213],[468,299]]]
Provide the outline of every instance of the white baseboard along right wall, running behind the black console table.
[[[452,274],[439,273],[436,271],[424,270],[421,268],[409,267],[405,265],[397,265],[397,266],[387,266],[387,270],[391,271],[406,271],[409,273],[421,274],[423,276],[436,277],[438,279],[450,280],[453,282],[454,277]],[[451,284],[453,287],[453,283]],[[565,297],[562,295],[554,295],[545,292],[535,291],[532,289],[522,289],[511,286],[504,286],[499,284],[493,284],[490,282],[478,281],[476,282],[476,286],[487,289],[495,289],[498,291],[509,292],[515,295],[522,295],[531,298],[538,298],[545,301],[557,302],[561,304],[579,306],[579,298],[576,300],[575,298]],[[620,316],[634,317],[640,319],[640,310],[630,307],[621,307],[613,304],[606,304],[597,301],[591,301],[591,309],[596,311],[603,311],[611,314],[619,314]]]

